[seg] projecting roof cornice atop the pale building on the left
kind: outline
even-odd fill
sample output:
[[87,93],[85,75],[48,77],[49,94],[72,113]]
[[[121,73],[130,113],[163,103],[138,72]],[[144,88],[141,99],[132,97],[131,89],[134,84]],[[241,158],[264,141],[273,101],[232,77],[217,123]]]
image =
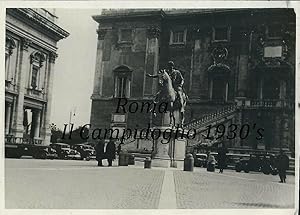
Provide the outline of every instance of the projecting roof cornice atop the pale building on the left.
[[7,13],[11,15],[17,14],[29,19],[30,21],[33,21],[35,24],[41,26],[43,29],[46,29],[52,34],[54,34],[56,36],[57,41],[69,36],[69,33],[67,31],[65,31],[49,19],[45,18],[44,16],[40,15],[39,13],[30,8],[8,8]]

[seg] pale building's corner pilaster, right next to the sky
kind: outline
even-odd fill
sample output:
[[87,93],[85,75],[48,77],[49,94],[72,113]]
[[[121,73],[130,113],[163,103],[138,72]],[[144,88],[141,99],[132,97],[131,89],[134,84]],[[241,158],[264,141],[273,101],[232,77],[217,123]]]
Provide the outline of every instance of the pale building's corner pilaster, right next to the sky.
[[51,52],[49,55],[49,62],[48,62],[48,71],[47,71],[47,86],[45,86],[46,94],[47,94],[47,104],[45,105],[45,109],[43,110],[44,114],[44,122],[43,122],[43,130],[44,130],[44,145],[50,144],[51,138],[51,106],[52,106],[52,88],[53,88],[53,78],[54,78],[54,65],[55,59],[57,58],[57,54],[55,52]]

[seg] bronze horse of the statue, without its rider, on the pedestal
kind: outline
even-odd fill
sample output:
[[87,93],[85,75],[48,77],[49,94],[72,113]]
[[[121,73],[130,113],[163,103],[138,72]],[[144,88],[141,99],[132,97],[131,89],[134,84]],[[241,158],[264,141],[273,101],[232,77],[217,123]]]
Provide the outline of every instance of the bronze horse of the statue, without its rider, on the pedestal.
[[166,102],[168,104],[168,110],[170,111],[170,124],[175,126],[175,111],[179,111],[179,117],[180,117],[180,126],[183,126],[184,123],[184,110],[187,103],[187,95],[186,93],[182,92],[183,94],[183,104],[181,104],[178,94],[176,90],[173,87],[172,79],[170,75],[167,73],[166,70],[159,70],[158,74],[158,81],[160,85],[160,102]]

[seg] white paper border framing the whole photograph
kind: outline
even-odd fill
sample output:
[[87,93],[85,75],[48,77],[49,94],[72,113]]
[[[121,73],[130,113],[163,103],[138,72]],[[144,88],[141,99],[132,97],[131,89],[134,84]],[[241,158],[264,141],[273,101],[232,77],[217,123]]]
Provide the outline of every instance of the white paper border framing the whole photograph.
[[[117,5],[117,7],[116,7]],[[294,8],[296,12],[296,98],[295,98],[295,209],[176,209],[176,210],[158,210],[158,209],[147,209],[147,210],[115,210],[115,209],[99,209],[99,210],[75,210],[75,209],[5,209],[5,191],[4,177],[5,177],[5,159],[4,159],[4,120],[0,124],[0,214],[272,214],[272,215],[283,215],[283,214],[298,214],[299,213],[299,106],[300,103],[300,92],[297,83],[300,83],[299,77],[299,21],[300,21],[300,2],[297,1],[1,1],[0,2],[0,80],[4,80],[4,48],[5,48],[5,8],[73,8],[73,9],[106,9],[106,8]],[[4,81],[0,83],[0,98],[3,101],[5,98],[5,87]],[[0,102],[1,111],[0,119],[4,119],[5,102]],[[298,131],[298,132],[297,132]],[[24,197],[26,198],[26,197]]]

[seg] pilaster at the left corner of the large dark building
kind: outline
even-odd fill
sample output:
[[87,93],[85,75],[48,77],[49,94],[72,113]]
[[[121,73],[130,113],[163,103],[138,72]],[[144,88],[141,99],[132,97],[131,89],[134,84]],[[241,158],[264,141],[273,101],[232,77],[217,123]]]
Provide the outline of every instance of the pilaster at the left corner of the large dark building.
[[97,42],[97,55],[96,55],[96,66],[95,66],[95,77],[94,77],[94,90],[93,94],[102,95],[103,86],[103,46],[104,37],[106,35],[107,29],[98,29],[98,42]]

